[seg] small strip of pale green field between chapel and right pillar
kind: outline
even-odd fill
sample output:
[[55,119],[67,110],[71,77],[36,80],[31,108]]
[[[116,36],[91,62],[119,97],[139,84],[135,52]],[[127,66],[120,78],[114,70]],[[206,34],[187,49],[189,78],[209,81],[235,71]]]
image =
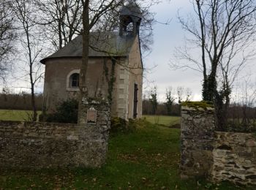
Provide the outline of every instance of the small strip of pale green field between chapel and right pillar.
[[172,126],[180,123],[181,118],[177,116],[167,116],[167,115],[143,115],[147,121],[153,124]]

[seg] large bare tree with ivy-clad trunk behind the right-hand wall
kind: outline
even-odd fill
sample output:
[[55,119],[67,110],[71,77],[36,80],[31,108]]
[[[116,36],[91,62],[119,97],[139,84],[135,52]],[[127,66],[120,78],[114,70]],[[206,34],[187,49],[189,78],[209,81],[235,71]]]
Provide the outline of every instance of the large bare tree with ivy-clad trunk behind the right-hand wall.
[[223,129],[233,78],[243,68],[246,59],[254,55],[250,45],[256,28],[256,2],[195,0],[192,4],[195,16],[178,19],[184,30],[191,34],[192,39],[188,42],[200,50],[201,57],[192,56],[189,47],[178,49],[181,58],[192,62],[192,65],[178,67],[185,66],[203,73],[203,100],[215,102],[218,126]]

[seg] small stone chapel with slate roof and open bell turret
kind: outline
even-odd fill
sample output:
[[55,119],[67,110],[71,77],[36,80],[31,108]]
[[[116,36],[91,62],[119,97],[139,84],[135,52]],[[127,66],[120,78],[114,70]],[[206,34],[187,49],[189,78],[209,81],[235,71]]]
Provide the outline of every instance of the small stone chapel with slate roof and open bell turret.
[[[142,115],[143,62],[140,51],[142,14],[129,2],[120,11],[119,31],[91,32],[86,86],[89,97],[108,99],[111,90],[111,114],[120,118]],[[67,99],[78,99],[82,37],[41,60],[45,64],[44,106],[52,113]]]

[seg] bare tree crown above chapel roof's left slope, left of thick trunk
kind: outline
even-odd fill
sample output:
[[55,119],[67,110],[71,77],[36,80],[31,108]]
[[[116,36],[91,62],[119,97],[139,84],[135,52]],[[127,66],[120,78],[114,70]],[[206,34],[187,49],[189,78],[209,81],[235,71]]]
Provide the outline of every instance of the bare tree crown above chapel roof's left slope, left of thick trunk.
[[39,24],[45,26],[45,36],[56,50],[67,45],[82,28],[80,0],[35,0],[39,8]]

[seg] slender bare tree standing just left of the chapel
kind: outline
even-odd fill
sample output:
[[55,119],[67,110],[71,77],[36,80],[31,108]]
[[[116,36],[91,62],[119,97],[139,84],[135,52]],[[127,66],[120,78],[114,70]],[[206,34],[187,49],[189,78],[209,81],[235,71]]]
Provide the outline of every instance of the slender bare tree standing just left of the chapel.
[[25,69],[22,72],[26,73],[24,78],[29,77],[33,110],[32,121],[37,121],[35,85],[42,77],[42,64],[39,64],[39,56],[43,50],[43,39],[40,37],[41,31],[39,26],[35,24],[37,9],[34,8],[31,0],[13,0],[12,9],[15,12],[16,25],[20,34],[21,52],[23,53],[20,61],[25,64]]

